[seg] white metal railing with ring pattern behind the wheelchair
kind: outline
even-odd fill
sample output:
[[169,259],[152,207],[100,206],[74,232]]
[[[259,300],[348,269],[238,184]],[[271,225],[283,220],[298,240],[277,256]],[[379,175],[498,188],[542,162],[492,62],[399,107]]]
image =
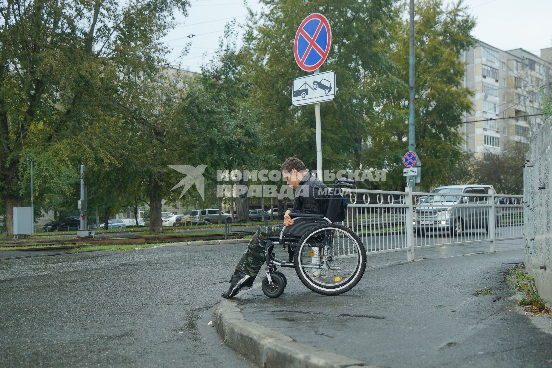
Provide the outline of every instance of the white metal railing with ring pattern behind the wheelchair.
[[368,254],[523,237],[523,196],[488,193],[412,193],[351,189],[343,225]]

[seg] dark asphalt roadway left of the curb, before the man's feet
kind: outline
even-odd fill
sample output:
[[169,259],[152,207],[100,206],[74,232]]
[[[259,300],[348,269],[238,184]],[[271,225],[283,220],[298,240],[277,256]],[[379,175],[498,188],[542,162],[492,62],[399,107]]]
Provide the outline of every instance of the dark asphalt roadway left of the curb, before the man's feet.
[[0,262],[0,367],[251,367],[214,307],[243,244]]

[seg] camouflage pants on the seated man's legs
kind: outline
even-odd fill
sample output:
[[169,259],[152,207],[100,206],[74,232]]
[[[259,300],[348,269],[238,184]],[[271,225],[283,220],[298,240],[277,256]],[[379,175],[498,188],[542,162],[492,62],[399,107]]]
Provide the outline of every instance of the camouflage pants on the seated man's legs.
[[262,226],[253,235],[247,249],[243,252],[242,258],[236,270],[250,275],[253,279],[257,277],[266,258],[264,257],[264,247],[267,245],[269,236],[280,236],[283,225],[280,226]]

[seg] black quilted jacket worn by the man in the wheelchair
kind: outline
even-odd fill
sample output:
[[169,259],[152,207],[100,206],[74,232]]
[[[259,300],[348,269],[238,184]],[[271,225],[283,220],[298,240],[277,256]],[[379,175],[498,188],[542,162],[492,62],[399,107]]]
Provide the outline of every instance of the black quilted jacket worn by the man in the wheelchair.
[[328,210],[327,186],[308,172],[295,189],[294,214],[326,215]]

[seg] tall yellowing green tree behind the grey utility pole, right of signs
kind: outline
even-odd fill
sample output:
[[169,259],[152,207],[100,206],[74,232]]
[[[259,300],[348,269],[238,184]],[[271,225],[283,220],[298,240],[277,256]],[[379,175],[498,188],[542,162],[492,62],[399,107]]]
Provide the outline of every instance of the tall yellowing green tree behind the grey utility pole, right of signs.
[[[470,32],[475,22],[466,10],[461,2],[446,9],[440,0],[416,2],[416,152],[423,164],[421,188],[426,190],[454,181],[456,171],[468,167],[461,150],[463,137],[455,124],[464,111],[471,110],[460,55],[474,43]],[[384,99],[378,117],[370,120],[370,149],[363,152],[368,167],[389,170],[386,187],[390,189],[404,181],[402,156],[408,148],[408,28],[406,19],[392,30],[395,41],[389,61],[400,83]]]

